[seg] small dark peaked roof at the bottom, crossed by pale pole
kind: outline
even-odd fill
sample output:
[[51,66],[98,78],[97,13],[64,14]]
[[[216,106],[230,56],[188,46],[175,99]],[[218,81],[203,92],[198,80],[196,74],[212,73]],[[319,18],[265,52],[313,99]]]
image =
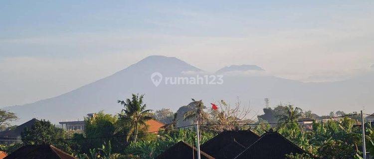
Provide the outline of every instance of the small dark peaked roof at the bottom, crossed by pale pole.
[[[193,156],[194,159],[197,159],[197,149],[181,141],[160,154],[156,159],[193,159]],[[214,159],[202,151],[200,151],[200,157],[201,159]]]

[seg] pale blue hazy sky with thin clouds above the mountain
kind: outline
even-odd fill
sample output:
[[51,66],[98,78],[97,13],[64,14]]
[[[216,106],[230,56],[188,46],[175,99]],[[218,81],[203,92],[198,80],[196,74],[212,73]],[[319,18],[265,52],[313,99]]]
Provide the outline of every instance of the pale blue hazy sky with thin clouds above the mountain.
[[[149,55],[302,81],[374,64],[374,1],[1,0],[0,106],[53,97]],[[372,67],[373,68],[373,67]]]

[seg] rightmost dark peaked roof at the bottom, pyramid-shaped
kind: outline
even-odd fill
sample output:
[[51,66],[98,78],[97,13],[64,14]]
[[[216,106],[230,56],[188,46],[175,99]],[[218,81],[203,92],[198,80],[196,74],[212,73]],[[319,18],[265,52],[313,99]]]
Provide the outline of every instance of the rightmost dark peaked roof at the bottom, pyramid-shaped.
[[277,132],[267,132],[234,159],[285,159],[288,154],[307,153]]

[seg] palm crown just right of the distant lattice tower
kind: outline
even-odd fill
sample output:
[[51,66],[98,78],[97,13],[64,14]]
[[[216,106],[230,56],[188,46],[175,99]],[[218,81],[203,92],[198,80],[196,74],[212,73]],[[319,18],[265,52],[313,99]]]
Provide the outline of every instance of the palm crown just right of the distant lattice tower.
[[276,115],[279,122],[294,122],[297,121],[303,115],[303,110],[299,107],[294,107],[289,104],[285,106],[280,114]]

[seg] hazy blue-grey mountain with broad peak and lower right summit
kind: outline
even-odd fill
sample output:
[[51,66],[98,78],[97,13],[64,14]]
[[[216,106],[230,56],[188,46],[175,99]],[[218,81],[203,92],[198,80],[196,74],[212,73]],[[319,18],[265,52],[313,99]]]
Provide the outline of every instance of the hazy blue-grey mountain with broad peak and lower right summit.
[[[238,70],[237,68],[263,70],[248,66],[231,66],[223,69],[223,72]],[[157,80],[154,75],[159,76],[160,84],[157,86],[153,83]],[[205,78],[212,81],[211,84],[193,84],[189,80],[198,79],[205,82]],[[270,99],[272,106],[280,102],[290,102],[305,110],[311,109],[317,114],[337,110],[359,111],[362,106],[366,106],[367,111],[374,111],[374,108],[370,107],[374,104],[373,72],[354,79],[322,83],[304,83],[273,76],[224,76],[222,79],[222,84],[213,84],[218,81],[218,77],[205,77],[202,70],[182,60],[150,56],[114,75],[65,94],[4,109],[18,114],[20,120],[16,124],[33,117],[58,123],[60,120],[82,118],[87,113],[100,110],[118,113],[122,106],[117,100],[129,98],[131,93],[139,93],[146,94],[145,102],[148,108],[154,110],[171,108],[176,111],[190,103],[191,98],[202,99],[207,106],[208,103],[220,99],[234,104],[239,96],[242,105],[250,103],[252,115],[262,114],[265,97]],[[178,83],[177,80],[180,80],[180,84],[174,84]]]

